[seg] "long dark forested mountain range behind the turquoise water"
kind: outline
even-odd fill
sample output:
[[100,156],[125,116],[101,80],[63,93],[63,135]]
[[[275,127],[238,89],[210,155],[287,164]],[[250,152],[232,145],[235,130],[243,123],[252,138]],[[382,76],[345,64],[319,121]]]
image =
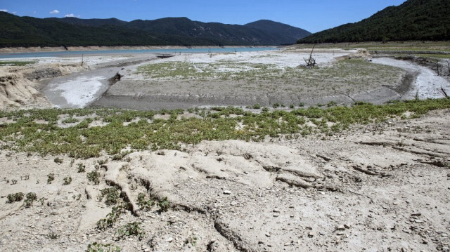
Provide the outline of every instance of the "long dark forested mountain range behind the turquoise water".
[[[126,22],[115,18],[30,18],[0,12],[0,47],[14,46],[263,46],[295,44],[303,29],[277,22],[225,25],[188,18]],[[273,26],[283,27],[276,32]],[[306,32],[306,33],[305,33]],[[289,34],[285,34],[289,33]]]

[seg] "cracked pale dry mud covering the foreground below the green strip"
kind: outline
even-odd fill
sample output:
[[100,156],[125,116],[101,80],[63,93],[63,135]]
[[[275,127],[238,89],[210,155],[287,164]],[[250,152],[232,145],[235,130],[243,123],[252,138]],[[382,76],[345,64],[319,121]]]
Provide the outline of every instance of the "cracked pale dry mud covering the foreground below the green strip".
[[[0,251],[84,251],[93,242],[122,251],[448,251],[449,126],[450,110],[440,110],[327,140],[134,152],[98,168],[99,185],[77,166],[91,172],[106,157],[60,157],[58,165],[53,156],[1,150],[1,178],[10,181],[0,183]],[[101,232],[96,222],[111,212],[98,201],[107,182],[132,207]],[[15,192],[35,192],[44,204],[6,203]],[[167,197],[172,207],[139,210],[139,192]],[[117,240],[132,222],[146,237]]]

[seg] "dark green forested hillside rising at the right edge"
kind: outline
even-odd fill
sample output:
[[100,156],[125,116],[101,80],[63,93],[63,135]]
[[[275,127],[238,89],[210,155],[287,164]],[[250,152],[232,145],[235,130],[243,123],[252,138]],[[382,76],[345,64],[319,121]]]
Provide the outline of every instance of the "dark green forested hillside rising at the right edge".
[[408,0],[360,22],[317,32],[297,43],[449,39],[450,0]]

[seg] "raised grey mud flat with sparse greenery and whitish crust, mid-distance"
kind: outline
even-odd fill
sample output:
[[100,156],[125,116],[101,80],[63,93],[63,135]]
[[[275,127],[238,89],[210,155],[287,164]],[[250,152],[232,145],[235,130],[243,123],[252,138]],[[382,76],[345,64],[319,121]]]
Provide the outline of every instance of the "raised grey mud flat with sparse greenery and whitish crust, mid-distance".
[[[307,69],[307,51],[198,53],[126,67],[94,107],[139,110],[203,105],[316,105],[383,103],[401,96],[397,67],[368,62],[357,51],[321,50]],[[338,59],[338,60],[336,60]]]

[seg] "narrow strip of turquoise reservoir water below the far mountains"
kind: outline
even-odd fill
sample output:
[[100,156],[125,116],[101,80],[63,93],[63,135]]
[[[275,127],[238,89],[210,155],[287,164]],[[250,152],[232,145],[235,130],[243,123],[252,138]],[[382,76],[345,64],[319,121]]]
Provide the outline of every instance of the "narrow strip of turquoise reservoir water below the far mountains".
[[139,53],[233,53],[252,51],[271,51],[276,47],[237,47],[237,48],[177,48],[148,50],[108,50],[108,51],[58,51],[32,53],[0,53],[0,58],[40,58],[40,57],[75,57],[79,55],[99,54],[139,54]]

